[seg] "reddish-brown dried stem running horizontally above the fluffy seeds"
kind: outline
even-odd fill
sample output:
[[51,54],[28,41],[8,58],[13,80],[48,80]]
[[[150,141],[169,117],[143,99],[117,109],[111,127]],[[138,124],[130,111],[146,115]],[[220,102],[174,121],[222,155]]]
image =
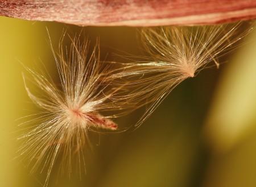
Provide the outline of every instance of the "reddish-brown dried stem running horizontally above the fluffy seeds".
[[0,16],[82,26],[216,24],[256,18],[254,0],[1,0]]

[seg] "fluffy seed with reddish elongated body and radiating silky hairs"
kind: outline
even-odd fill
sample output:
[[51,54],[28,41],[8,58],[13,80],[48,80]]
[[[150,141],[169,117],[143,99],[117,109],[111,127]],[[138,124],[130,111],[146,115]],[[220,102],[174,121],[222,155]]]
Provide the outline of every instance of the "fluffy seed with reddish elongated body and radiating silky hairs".
[[42,165],[42,170],[47,169],[45,186],[57,157],[61,174],[71,173],[73,161],[79,164],[80,174],[82,168],[85,169],[84,146],[89,144],[88,131],[117,130],[112,117],[101,113],[119,111],[112,97],[122,86],[113,89],[105,83],[111,70],[108,66],[102,67],[98,44],[91,54],[88,45],[87,41],[80,43],[75,38],[70,49],[60,43],[60,55],[53,52],[61,86],[54,84],[48,73],[26,68],[30,73],[24,77],[27,93],[42,113],[22,124],[27,128],[19,138],[23,140],[19,154],[33,165],[31,172]]

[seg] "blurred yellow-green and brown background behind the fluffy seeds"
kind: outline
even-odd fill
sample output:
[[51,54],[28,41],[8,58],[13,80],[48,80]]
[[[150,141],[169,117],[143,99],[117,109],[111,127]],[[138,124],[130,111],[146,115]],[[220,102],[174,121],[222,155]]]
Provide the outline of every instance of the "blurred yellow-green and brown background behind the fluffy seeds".
[[[31,68],[43,63],[57,77],[46,27],[56,50],[63,30],[75,34],[81,27],[5,17],[0,25],[0,184],[42,186],[45,173],[31,176],[31,168],[15,159],[17,119],[37,110],[19,61]],[[100,36],[102,59],[115,59],[118,50],[141,55],[136,28],[85,27],[82,32],[92,46]],[[182,82],[137,130],[92,135],[87,174],[57,181],[54,168],[48,186],[256,186],[255,37],[254,31],[250,43],[222,58],[228,63],[220,69],[205,69]],[[136,115],[116,122],[127,127]]]

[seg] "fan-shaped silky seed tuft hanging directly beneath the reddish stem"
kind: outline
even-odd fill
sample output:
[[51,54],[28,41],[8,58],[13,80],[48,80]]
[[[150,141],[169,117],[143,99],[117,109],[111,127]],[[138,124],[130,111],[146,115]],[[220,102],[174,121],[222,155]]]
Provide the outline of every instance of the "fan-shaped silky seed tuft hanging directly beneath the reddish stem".
[[143,57],[144,61],[122,64],[126,65],[125,70],[113,75],[113,78],[122,77],[117,79],[119,82],[115,80],[117,85],[123,80],[133,80],[133,84],[129,84],[131,92],[126,97],[138,102],[138,106],[148,106],[137,126],[180,82],[194,77],[200,70],[211,66],[211,62],[218,68],[217,58],[237,48],[233,44],[252,29],[251,24],[243,26],[240,22],[216,26],[142,28],[142,43],[149,57]]

